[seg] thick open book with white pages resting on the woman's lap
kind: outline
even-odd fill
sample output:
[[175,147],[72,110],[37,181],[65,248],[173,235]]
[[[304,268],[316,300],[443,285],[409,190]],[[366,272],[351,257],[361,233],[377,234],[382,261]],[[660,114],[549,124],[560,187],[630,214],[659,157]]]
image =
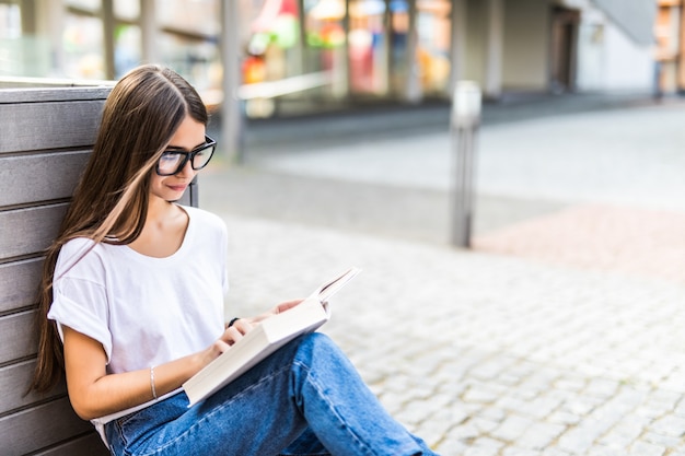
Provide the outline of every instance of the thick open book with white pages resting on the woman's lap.
[[255,326],[229,350],[183,384],[190,406],[218,391],[269,354],[294,339],[315,331],[328,320],[328,300],[360,269],[352,268],[317,288],[309,297],[288,311]]

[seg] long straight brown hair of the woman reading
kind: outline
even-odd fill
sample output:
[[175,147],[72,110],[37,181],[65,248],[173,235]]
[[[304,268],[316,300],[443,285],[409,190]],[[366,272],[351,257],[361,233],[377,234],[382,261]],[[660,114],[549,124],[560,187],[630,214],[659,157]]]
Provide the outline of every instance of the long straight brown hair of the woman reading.
[[131,70],[107,97],[93,153],[46,252],[38,295],[38,360],[30,390],[51,389],[63,371],[57,325],[47,319],[59,250],[76,237],[129,244],[140,235],[148,212],[148,177],[186,116],[207,125],[207,109],[195,89],[163,67]]

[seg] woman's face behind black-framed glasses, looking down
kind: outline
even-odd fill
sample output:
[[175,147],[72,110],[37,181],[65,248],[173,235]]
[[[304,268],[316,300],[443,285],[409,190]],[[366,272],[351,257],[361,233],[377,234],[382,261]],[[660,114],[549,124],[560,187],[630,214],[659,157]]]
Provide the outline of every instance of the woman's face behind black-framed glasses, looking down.
[[[205,125],[186,116],[166,149],[190,152],[204,143]],[[153,171],[150,178],[150,194],[165,201],[177,201],[196,174],[197,171],[193,169],[189,160],[178,173],[171,176],[160,176]]]

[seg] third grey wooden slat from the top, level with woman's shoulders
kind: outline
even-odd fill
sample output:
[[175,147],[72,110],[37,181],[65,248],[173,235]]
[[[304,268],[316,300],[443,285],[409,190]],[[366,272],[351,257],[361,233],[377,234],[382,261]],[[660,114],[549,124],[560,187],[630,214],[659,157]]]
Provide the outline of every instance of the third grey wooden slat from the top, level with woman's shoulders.
[[0,211],[0,259],[34,255],[50,246],[67,203]]

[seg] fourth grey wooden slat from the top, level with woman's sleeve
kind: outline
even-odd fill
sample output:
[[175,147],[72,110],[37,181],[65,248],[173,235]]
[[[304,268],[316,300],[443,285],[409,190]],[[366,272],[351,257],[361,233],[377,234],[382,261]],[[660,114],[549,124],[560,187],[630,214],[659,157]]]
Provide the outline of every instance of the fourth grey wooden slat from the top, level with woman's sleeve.
[[42,268],[43,258],[0,265],[0,314],[36,303]]

